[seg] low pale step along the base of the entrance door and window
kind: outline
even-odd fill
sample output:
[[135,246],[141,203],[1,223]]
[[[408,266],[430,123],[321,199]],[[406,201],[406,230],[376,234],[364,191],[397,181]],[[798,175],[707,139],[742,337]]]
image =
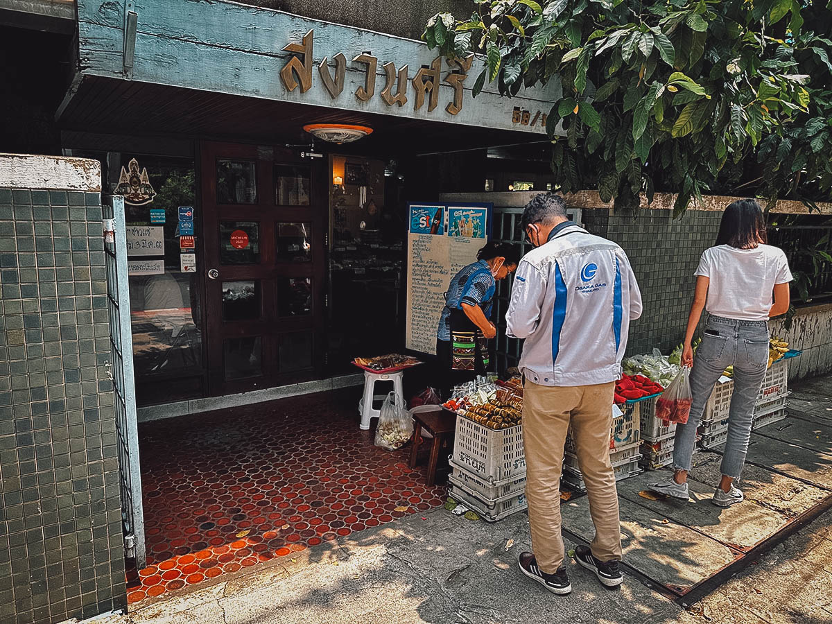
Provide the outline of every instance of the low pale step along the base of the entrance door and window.
[[[252,390],[251,392],[241,394],[227,394],[224,397],[208,397],[206,399],[191,399],[188,401],[176,401],[176,403],[148,405],[136,411],[138,422],[147,423],[153,420],[161,420],[162,418],[200,414],[201,412],[210,412],[213,409],[237,408],[242,405],[285,399],[286,397],[295,397],[300,394],[326,392],[327,390],[348,388],[349,386],[358,386],[361,384],[364,384],[363,373],[349,374],[330,377],[329,379],[314,379],[313,381],[278,386],[277,388]],[[356,409],[358,409],[357,405]]]

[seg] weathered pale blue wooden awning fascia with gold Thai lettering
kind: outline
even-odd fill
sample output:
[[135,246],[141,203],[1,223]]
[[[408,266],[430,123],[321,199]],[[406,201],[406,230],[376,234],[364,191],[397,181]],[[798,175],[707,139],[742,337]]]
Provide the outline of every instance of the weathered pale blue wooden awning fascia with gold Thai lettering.
[[473,98],[477,58],[449,62],[422,42],[235,2],[78,0],[78,21],[80,71],[61,111],[102,77],[545,138],[560,95],[550,82]]

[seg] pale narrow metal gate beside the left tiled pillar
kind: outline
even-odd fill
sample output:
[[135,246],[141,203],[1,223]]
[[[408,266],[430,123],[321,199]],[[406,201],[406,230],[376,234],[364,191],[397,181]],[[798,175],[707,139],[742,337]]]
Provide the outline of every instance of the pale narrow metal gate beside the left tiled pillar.
[[127,241],[124,198],[102,202],[106,260],[107,307],[110,313],[111,378],[115,394],[116,438],[121,475],[121,524],[126,557],[136,567],[146,566],[145,523],[141,505],[139,434],[136,424],[136,385],[133,379],[133,334],[130,287],[127,278]]

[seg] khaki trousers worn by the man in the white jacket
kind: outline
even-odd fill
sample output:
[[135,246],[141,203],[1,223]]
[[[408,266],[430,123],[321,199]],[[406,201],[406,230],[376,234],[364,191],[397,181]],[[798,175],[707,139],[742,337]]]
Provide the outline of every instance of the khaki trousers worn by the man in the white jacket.
[[610,463],[614,390],[615,383],[554,388],[526,380],[522,438],[528,521],[532,549],[543,572],[557,572],[564,558],[560,490],[563,444],[570,422],[595,525],[592,554],[602,562],[622,558],[618,493]]

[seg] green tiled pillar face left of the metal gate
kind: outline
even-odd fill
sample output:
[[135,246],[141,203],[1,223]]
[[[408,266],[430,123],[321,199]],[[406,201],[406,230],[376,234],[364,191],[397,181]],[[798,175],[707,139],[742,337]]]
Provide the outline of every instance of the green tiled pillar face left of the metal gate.
[[98,193],[0,188],[0,622],[126,605]]

